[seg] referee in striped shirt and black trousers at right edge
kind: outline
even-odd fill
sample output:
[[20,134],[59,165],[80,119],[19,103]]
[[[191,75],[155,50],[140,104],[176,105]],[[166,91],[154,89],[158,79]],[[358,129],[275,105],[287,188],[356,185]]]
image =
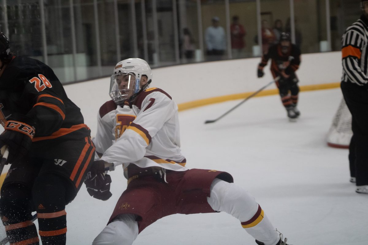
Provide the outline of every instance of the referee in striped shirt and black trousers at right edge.
[[353,116],[349,146],[351,182],[357,193],[368,194],[368,1],[361,1],[361,17],[342,37],[341,90]]

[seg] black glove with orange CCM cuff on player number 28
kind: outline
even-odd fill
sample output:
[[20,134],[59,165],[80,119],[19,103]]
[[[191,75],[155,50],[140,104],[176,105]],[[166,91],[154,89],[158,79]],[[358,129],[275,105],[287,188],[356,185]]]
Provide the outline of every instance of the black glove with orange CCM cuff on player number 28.
[[7,163],[11,163],[27,155],[35,135],[35,128],[23,122],[8,120],[4,129],[5,131],[0,134],[0,148],[8,146]]

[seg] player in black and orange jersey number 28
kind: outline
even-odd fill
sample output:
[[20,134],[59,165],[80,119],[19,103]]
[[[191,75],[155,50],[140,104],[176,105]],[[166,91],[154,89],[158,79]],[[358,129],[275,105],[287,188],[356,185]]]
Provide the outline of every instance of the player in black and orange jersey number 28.
[[52,69],[10,53],[0,33],[0,148],[10,163],[0,217],[10,244],[66,244],[65,206],[81,187],[95,147],[80,109]]

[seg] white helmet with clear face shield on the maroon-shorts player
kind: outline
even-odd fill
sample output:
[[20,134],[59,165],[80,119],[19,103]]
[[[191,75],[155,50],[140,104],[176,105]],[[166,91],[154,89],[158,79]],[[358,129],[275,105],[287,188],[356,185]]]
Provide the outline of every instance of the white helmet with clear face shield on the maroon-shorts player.
[[145,60],[129,58],[120,61],[114,68],[111,76],[110,97],[116,104],[122,104],[125,100],[134,100],[141,91],[141,78],[147,77],[147,84],[152,81],[152,70]]

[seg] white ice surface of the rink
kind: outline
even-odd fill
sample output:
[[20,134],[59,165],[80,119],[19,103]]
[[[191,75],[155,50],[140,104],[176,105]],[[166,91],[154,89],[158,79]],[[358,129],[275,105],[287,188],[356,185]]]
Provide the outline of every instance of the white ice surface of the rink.
[[[255,97],[213,124],[241,100],[180,112],[181,146],[190,168],[231,173],[293,245],[367,245],[368,195],[349,180],[348,150],[326,145],[340,89],[300,93],[301,117],[289,122],[279,96]],[[95,117],[96,112],[84,117]],[[126,187],[112,175],[113,197],[99,201],[82,187],[67,205],[67,244],[88,245],[105,227]],[[144,200],[142,200],[144,201]],[[226,213],[171,215],[134,245],[255,245]]]

